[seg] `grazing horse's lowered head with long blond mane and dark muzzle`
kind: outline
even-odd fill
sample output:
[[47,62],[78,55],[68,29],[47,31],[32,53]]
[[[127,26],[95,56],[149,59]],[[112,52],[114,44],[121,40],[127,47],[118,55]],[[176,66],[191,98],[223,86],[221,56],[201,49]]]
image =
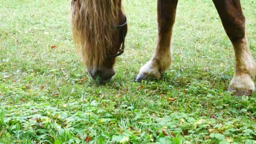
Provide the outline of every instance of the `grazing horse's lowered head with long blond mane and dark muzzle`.
[[74,43],[89,74],[101,83],[109,81],[115,75],[115,58],[124,52],[127,33],[121,1],[73,0],[71,22]]

